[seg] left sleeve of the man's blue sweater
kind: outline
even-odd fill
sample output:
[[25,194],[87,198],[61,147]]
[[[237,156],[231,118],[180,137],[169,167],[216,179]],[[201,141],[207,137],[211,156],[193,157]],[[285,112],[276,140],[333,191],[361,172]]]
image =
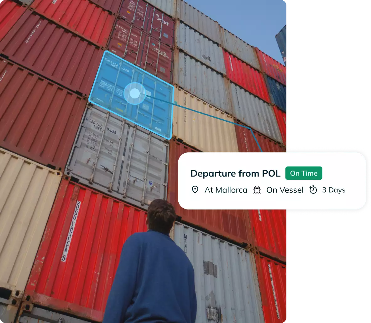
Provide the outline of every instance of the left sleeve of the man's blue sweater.
[[103,323],[122,323],[135,290],[140,245],[130,236],[122,247],[120,262],[108,296]]

